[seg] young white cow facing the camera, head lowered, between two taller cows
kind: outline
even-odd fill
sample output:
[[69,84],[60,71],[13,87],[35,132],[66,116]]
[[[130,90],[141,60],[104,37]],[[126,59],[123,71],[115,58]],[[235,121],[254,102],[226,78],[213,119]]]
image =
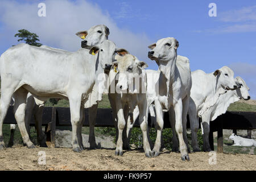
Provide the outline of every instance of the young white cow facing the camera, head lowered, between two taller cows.
[[[123,155],[123,130],[125,129],[127,117],[129,115],[129,122],[133,120],[133,113],[135,108],[139,110],[139,123],[143,134],[143,148],[147,157],[152,157],[153,154],[148,142],[147,130],[147,114],[148,105],[146,98],[146,73],[144,68],[148,65],[143,61],[139,61],[137,57],[130,55],[128,52],[123,52],[119,56],[115,56],[113,69],[118,69],[118,72],[110,71],[109,77],[116,77],[118,81],[114,80],[114,88],[117,93],[113,93],[110,84],[109,97],[111,98],[112,108],[117,114],[118,120],[118,140],[115,155]],[[142,79],[139,82],[139,78]],[[144,92],[143,92],[144,90]],[[118,93],[119,91],[119,93]]]

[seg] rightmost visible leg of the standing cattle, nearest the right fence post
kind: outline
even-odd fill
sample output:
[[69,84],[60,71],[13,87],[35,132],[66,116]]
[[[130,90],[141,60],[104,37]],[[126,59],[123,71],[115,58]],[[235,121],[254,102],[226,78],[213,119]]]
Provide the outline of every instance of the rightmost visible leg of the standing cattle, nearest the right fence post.
[[204,134],[203,134],[203,149],[205,152],[212,151],[210,148],[210,143],[209,143],[209,133],[210,133],[210,115],[209,114],[203,114],[202,115],[202,125],[204,129]]

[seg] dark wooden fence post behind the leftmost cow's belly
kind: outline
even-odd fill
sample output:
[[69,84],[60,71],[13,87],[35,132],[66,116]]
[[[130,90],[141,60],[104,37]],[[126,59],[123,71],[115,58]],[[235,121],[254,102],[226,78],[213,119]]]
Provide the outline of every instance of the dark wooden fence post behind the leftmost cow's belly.
[[48,147],[55,147],[56,134],[56,108],[52,107],[52,119],[46,126],[46,144]]

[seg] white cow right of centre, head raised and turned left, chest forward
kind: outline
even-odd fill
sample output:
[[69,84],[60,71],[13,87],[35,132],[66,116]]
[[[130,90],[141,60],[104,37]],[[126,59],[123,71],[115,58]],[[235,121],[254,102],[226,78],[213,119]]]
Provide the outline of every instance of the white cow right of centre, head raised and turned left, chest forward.
[[[159,155],[163,129],[163,111],[172,106],[175,113],[175,129],[179,137],[182,160],[189,160],[187,146],[183,139],[183,123],[187,123],[188,104],[191,90],[191,71],[189,60],[184,57],[183,64],[176,64],[179,42],[175,38],[164,38],[148,46],[152,51],[148,57],[159,65],[159,92],[154,99],[156,122],[158,123],[157,137],[153,152]],[[147,80],[147,84],[151,82]]]

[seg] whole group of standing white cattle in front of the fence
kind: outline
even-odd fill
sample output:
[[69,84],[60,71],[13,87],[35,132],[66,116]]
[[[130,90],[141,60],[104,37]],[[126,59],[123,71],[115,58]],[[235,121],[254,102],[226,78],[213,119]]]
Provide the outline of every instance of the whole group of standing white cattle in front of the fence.
[[[81,129],[84,108],[89,108],[89,143],[90,148],[96,148],[94,124],[98,101],[102,100],[99,90],[107,89],[117,129],[115,155],[121,156],[123,148],[129,148],[130,131],[139,117],[145,155],[158,156],[162,147],[163,112],[168,111],[174,134],[173,151],[180,151],[182,160],[189,160],[190,152],[187,114],[193,151],[200,151],[197,144],[199,117],[202,118],[204,151],[210,151],[209,122],[225,113],[231,103],[250,99],[245,81],[241,77],[234,78],[234,72],[226,66],[213,73],[201,70],[191,73],[189,59],[177,55],[179,42],[175,38],[163,38],[148,46],[151,49],[148,57],[159,66],[158,71],[154,71],[145,69],[148,65],[125,49],[118,49],[108,40],[109,34],[105,25],[77,32],[84,40],[82,48],[76,52],[22,43],[1,55],[0,150],[5,148],[2,126],[12,98],[15,119],[28,148],[35,147],[29,134],[34,111],[38,142],[41,147],[46,146],[42,111],[49,98],[69,100],[75,152],[84,150]],[[98,79],[102,74],[106,77]],[[136,82],[138,77],[140,81]],[[112,84],[119,92],[110,92]],[[141,92],[142,89],[146,92]],[[148,111],[157,131],[154,148],[148,134]],[[14,129],[15,125],[11,127]]]

